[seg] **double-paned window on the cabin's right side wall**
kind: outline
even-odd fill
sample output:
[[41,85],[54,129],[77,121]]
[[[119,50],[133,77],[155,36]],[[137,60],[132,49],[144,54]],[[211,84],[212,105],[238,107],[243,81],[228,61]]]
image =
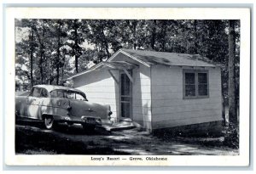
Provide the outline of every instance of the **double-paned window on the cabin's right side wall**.
[[208,98],[208,83],[208,70],[183,70],[183,98]]

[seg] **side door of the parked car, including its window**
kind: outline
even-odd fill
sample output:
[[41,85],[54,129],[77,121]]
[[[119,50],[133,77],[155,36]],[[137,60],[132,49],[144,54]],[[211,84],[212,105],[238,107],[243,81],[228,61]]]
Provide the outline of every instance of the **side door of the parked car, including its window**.
[[27,117],[39,119],[41,87],[33,87],[32,93],[27,97]]

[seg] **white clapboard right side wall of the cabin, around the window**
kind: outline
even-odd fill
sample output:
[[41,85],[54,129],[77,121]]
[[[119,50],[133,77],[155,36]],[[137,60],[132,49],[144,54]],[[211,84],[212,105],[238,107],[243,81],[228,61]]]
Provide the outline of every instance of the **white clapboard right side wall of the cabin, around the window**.
[[209,98],[183,99],[182,67],[152,67],[153,129],[222,119],[220,70],[208,70]]

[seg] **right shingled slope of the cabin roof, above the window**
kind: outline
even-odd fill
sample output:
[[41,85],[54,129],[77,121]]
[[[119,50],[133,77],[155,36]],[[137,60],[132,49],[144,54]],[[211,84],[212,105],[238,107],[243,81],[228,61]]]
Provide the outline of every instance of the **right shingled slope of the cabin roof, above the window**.
[[181,66],[207,66],[214,67],[212,62],[199,55],[189,53],[167,53],[144,51],[134,49],[120,49],[121,53],[128,53],[132,57],[140,59],[148,65],[181,65]]

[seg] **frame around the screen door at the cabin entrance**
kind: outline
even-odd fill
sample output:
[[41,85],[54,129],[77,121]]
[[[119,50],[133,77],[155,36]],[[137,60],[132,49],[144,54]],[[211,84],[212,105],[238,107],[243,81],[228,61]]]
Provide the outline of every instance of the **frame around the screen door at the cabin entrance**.
[[[132,69],[131,70],[127,70],[128,73],[132,76]],[[125,74],[125,71],[124,70],[119,70],[119,121],[122,120],[122,119],[125,119],[125,118],[130,118],[131,120],[133,119],[133,107],[132,107],[132,82],[131,80],[129,79],[130,81],[130,116],[129,117],[123,117],[121,116],[121,113],[122,113],[122,105],[121,105],[121,84],[122,84],[122,81],[121,81],[121,75],[122,74]],[[126,75],[126,74],[125,74]],[[127,76],[127,75],[126,75]]]

